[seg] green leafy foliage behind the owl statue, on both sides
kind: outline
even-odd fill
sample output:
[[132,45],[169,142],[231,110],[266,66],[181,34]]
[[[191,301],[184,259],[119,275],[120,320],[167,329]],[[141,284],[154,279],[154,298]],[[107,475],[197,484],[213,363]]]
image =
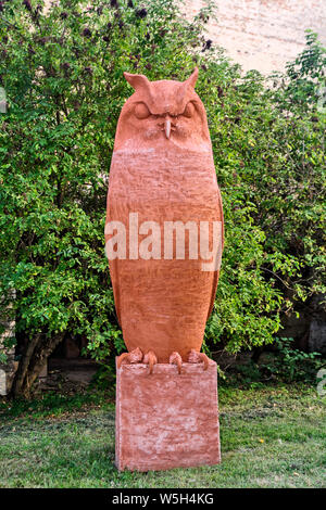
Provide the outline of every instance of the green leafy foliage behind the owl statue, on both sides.
[[287,73],[243,75],[180,2],[0,2],[0,295],[16,290],[24,345],[13,385],[28,395],[65,335],[105,366],[124,348],[104,218],[117,117],[131,89],[123,72],[186,79],[208,112],[226,242],[205,347],[271,343],[281,314],[325,292],[325,50],[314,34]]

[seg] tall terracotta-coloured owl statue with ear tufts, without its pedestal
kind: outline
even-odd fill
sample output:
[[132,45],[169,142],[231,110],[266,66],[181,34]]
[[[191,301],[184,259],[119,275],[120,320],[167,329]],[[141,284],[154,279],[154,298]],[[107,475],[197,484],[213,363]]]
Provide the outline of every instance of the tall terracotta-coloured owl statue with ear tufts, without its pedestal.
[[[170,362],[181,372],[183,362],[202,362],[206,369],[200,350],[220,275],[223,209],[206,114],[195,91],[198,68],[183,82],[124,76],[135,93],[117,124],[105,222],[106,247],[113,238],[120,244],[116,253],[106,250],[128,349],[117,366],[143,362],[152,372],[156,362]],[[201,233],[214,262],[209,269],[196,250]]]

